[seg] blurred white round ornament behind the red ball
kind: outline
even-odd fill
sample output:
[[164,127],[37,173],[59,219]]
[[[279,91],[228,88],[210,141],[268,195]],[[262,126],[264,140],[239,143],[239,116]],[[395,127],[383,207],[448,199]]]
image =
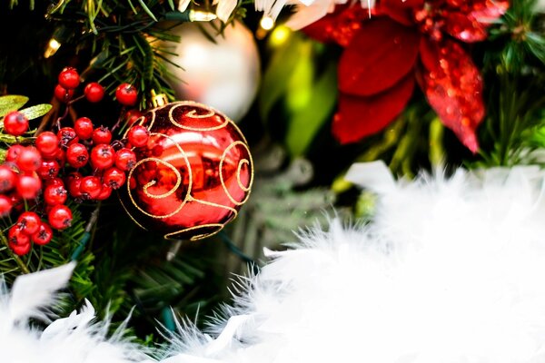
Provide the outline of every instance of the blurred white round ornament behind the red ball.
[[[208,34],[212,25],[202,24]],[[222,34],[208,39],[199,25],[186,23],[173,28],[180,43],[165,43],[166,64],[175,78],[169,79],[179,100],[212,106],[238,122],[253,103],[260,81],[260,59],[253,34],[242,23],[228,25]],[[177,79],[176,79],[177,78]]]

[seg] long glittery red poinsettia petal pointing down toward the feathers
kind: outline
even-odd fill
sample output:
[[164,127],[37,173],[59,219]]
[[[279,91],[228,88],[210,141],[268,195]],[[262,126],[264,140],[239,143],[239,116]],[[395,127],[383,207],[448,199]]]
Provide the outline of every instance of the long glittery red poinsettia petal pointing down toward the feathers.
[[436,49],[438,66],[421,69],[421,88],[441,122],[471,152],[477,152],[475,130],[484,117],[481,73],[470,55],[455,42],[447,40],[426,48],[430,52]]

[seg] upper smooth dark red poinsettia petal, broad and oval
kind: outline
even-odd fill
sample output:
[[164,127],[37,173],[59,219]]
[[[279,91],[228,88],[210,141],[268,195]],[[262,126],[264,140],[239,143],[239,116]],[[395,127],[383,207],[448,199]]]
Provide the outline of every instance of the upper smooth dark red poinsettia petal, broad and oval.
[[339,89],[369,96],[387,90],[411,72],[420,35],[386,17],[364,24],[339,62]]

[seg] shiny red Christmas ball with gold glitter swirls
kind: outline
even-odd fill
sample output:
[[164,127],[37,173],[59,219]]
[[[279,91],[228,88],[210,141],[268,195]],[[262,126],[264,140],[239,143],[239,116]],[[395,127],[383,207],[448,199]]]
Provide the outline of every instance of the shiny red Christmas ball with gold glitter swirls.
[[[253,162],[237,126],[200,103],[155,108],[147,143],[121,189],[125,211],[144,229],[166,239],[200,240],[223,229],[248,199]],[[129,131],[130,132],[130,131]]]

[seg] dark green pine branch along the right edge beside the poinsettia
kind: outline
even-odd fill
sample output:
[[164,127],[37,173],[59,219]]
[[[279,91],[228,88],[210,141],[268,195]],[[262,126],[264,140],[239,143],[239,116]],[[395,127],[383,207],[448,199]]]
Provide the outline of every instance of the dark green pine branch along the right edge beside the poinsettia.
[[512,2],[501,25],[490,32],[483,72],[490,97],[481,136],[491,147],[481,152],[480,166],[530,162],[526,159],[536,147],[534,132],[545,123],[545,37],[543,16],[534,6],[534,0]]

